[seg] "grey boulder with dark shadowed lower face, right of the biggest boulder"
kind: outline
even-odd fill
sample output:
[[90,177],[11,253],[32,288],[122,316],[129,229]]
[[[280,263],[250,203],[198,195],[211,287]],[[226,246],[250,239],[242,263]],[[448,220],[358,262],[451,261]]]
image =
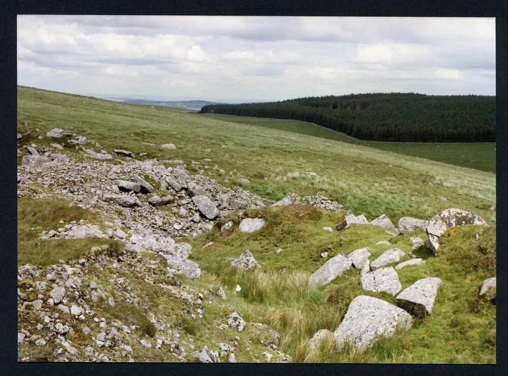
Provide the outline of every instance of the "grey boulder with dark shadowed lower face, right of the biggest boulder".
[[413,316],[429,316],[441,284],[441,279],[435,277],[419,279],[397,296],[395,304]]

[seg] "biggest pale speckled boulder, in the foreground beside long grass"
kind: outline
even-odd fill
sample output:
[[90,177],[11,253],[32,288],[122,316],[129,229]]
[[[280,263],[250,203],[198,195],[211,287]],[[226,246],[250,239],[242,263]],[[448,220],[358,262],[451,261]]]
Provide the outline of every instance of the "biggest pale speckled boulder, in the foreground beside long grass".
[[381,336],[391,337],[397,329],[409,329],[412,321],[405,310],[384,300],[360,295],[353,299],[333,334],[339,348],[349,342],[356,349],[365,350]]

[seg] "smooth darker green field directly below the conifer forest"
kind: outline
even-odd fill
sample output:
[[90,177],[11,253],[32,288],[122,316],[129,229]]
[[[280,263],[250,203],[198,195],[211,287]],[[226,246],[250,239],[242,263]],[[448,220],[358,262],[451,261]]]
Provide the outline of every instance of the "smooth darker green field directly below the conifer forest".
[[248,116],[223,114],[202,114],[220,120],[249,124],[257,127],[280,129],[330,140],[373,147],[375,149],[393,151],[395,153],[419,156],[432,161],[449,163],[456,166],[469,167],[482,171],[496,171],[495,142],[479,143],[417,143],[417,142],[375,142],[363,141],[344,133],[332,131],[300,120],[267,119]]

